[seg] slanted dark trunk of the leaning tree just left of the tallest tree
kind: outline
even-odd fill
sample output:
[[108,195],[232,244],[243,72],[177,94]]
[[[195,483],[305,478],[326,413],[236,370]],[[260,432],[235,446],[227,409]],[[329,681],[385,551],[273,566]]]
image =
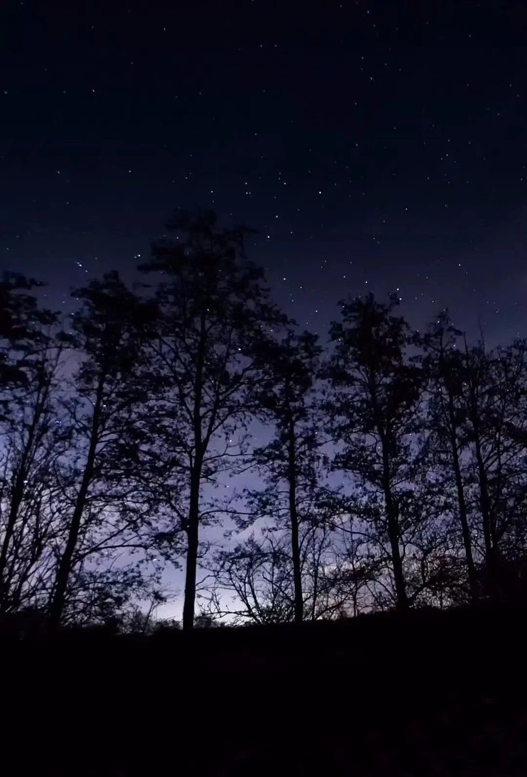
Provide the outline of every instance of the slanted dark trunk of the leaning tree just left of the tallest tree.
[[71,523],[68,529],[68,540],[66,541],[64,552],[62,553],[61,560],[59,561],[57,577],[55,578],[54,592],[50,604],[50,629],[52,631],[56,631],[61,625],[64,605],[66,603],[66,593],[68,591],[68,580],[71,574],[71,564],[73,562],[75,548],[77,547],[78,532],[81,528],[82,514],[85,510],[88,488],[92,482],[93,470],[95,467],[95,451],[97,449],[97,442],[99,438],[99,421],[105,381],[106,375],[102,374],[99,378],[99,385],[97,387],[97,394],[95,396],[95,405],[93,408],[92,416],[92,429],[90,432],[88,455],[86,457],[86,465],[82,476],[81,487],[78,490],[77,500],[75,500],[75,508],[73,510]]

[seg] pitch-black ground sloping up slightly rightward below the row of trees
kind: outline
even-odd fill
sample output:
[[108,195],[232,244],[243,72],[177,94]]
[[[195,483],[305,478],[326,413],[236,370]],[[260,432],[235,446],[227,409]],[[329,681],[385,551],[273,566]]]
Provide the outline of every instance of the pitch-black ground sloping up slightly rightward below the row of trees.
[[527,775],[526,615],[5,644],[2,772]]

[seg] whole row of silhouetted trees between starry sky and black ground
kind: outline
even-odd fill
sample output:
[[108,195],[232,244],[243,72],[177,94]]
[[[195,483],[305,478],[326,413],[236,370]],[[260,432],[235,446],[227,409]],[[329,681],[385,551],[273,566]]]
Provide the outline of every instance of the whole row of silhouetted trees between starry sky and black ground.
[[167,565],[184,629],[522,597],[525,340],[414,331],[369,295],[321,343],[248,229],[168,232],[143,284],[92,280],[68,318],[4,274],[0,618],[147,629]]

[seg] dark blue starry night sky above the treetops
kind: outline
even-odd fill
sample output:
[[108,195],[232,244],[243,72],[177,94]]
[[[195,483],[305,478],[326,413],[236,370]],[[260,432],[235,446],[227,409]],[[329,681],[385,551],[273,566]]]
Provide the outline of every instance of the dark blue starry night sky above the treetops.
[[323,341],[397,288],[414,326],[525,335],[525,2],[92,5],[0,12],[1,269],[50,307],[213,207]]

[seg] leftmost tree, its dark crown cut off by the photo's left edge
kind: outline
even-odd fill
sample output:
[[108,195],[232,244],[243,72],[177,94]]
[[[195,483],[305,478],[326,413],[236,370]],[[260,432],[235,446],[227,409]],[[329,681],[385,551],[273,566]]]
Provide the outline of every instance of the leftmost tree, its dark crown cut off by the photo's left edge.
[[27,293],[41,285],[19,274],[4,274],[0,284],[0,612],[20,606],[42,555],[50,528],[43,508],[49,465],[64,446],[54,400],[68,336],[58,314],[40,308]]

